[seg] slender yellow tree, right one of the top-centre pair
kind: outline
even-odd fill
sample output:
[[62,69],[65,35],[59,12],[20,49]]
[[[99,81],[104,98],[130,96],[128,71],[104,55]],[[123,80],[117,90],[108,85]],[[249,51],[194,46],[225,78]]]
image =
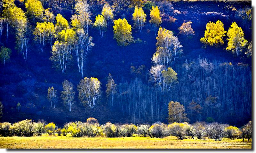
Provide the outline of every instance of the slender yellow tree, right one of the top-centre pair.
[[158,27],[162,22],[162,17],[160,17],[160,11],[158,7],[152,6],[152,9],[150,10],[150,17],[149,23],[154,26],[154,31],[156,35],[156,27]]

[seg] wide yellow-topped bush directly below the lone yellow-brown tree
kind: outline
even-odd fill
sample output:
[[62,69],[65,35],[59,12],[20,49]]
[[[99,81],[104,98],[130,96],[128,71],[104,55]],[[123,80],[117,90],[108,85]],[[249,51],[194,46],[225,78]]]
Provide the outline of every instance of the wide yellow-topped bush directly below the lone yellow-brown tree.
[[172,123],[167,127],[167,134],[176,136],[178,139],[183,140],[186,136],[186,129],[188,128],[187,123]]

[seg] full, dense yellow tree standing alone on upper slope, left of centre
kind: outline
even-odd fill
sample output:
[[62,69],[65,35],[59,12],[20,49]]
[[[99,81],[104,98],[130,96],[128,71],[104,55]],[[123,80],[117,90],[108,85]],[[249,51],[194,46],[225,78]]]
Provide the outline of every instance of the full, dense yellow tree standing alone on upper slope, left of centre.
[[124,18],[114,21],[114,38],[118,45],[129,45],[133,42],[132,37],[132,26],[128,24],[127,20]]

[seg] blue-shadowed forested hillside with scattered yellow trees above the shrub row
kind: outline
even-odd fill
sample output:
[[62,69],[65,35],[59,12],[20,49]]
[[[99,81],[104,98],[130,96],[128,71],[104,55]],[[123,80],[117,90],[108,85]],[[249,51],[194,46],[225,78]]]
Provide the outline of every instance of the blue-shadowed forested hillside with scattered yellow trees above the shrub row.
[[252,120],[251,18],[247,1],[3,0],[0,122],[240,127]]

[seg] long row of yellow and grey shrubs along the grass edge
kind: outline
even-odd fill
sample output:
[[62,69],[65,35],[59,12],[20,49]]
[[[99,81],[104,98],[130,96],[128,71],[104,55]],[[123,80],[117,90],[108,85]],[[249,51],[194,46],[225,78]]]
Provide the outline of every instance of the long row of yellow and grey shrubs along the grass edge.
[[44,133],[49,136],[66,136],[70,133],[73,137],[131,137],[134,134],[138,136],[149,136],[152,138],[163,138],[165,136],[176,136],[178,139],[209,139],[219,140],[223,137],[229,139],[250,139],[252,138],[252,121],[240,129],[228,124],[196,122],[194,124],[171,123],[164,124],[156,122],[153,125],[142,124],[112,124],[107,122],[100,125],[95,118],[88,118],[87,122],[69,122],[64,124],[62,129],[54,123],[46,124],[43,120],[34,122],[24,120],[17,123],[0,123],[0,135],[2,136],[42,136]]

